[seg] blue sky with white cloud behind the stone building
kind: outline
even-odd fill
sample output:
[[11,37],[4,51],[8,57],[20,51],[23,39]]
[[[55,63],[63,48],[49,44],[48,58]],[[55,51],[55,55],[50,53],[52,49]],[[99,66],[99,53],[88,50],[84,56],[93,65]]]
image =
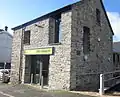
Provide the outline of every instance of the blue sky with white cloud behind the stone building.
[[[0,0],[0,28],[23,24],[79,0]],[[112,25],[114,41],[120,41],[120,0],[103,0]]]

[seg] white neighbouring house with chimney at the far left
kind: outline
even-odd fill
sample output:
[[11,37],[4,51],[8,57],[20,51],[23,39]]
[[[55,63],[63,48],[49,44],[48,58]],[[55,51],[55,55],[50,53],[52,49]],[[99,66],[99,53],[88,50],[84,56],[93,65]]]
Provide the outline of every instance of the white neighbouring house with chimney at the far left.
[[7,31],[0,29],[0,70],[11,68],[12,38],[13,36]]

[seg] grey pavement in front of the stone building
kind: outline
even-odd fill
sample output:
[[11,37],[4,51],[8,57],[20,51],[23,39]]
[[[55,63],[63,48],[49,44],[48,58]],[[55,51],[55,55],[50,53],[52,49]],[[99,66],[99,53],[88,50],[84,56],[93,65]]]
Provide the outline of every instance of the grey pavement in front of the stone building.
[[0,97],[94,97],[67,91],[46,91],[29,85],[0,83]]

